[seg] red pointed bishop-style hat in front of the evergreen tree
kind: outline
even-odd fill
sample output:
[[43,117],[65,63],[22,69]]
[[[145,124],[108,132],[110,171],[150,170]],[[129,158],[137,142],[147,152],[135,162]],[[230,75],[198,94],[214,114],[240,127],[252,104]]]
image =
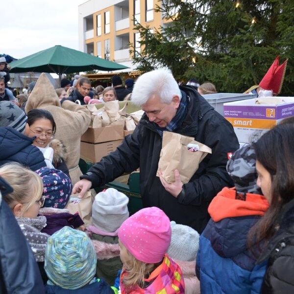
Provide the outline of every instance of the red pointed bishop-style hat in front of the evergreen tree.
[[288,61],[286,59],[283,64],[279,65],[279,60],[280,56],[274,60],[270,69],[259,83],[261,88],[271,90],[273,94],[279,94],[281,92]]

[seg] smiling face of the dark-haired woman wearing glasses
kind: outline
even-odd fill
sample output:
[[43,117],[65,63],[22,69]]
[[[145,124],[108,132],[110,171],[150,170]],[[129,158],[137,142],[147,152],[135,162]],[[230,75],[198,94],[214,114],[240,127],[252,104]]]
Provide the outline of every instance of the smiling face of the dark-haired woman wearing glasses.
[[25,135],[32,138],[36,136],[33,145],[45,148],[53,137],[53,126],[48,119],[39,119],[30,126],[25,125]]

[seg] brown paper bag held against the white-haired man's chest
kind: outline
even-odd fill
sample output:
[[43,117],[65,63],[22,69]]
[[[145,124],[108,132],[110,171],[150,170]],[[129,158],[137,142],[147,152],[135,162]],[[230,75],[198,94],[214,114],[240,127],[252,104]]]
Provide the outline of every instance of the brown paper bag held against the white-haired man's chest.
[[[196,144],[199,150],[191,152],[188,144]],[[211,153],[211,148],[197,141],[193,137],[187,137],[172,132],[163,132],[162,148],[158,162],[158,172],[161,171],[163,178],[168,183],[174,182],[174,170],[180,173],[181,181],[186,184],[197,171],[199,163]]]

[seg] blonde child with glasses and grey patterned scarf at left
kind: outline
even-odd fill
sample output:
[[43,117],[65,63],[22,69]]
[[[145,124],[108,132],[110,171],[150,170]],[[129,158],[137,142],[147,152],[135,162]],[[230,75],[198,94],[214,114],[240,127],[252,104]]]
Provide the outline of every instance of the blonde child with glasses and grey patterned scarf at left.
[[38,216],[45,202],[45,197],[42,195],[43,182],[37,173],[17,163],[0,167],[0,176],[13,188],[13,192],[3,196],[3,200],[16,217],[34,253],[43,281],[46,281],[44,261],[49,235],[41,232],[47,225],[46,217]]

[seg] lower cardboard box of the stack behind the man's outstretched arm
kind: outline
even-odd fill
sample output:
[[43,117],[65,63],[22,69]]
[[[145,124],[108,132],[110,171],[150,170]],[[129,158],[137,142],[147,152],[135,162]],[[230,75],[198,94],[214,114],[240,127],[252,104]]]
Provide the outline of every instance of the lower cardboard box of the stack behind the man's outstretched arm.
[[102,157],[108,155],[121,145],[123,140],[116,140],[106,143],[93,144],[87,142],[81,142],[80,156],[87,162],[96,163],[101,160]]

